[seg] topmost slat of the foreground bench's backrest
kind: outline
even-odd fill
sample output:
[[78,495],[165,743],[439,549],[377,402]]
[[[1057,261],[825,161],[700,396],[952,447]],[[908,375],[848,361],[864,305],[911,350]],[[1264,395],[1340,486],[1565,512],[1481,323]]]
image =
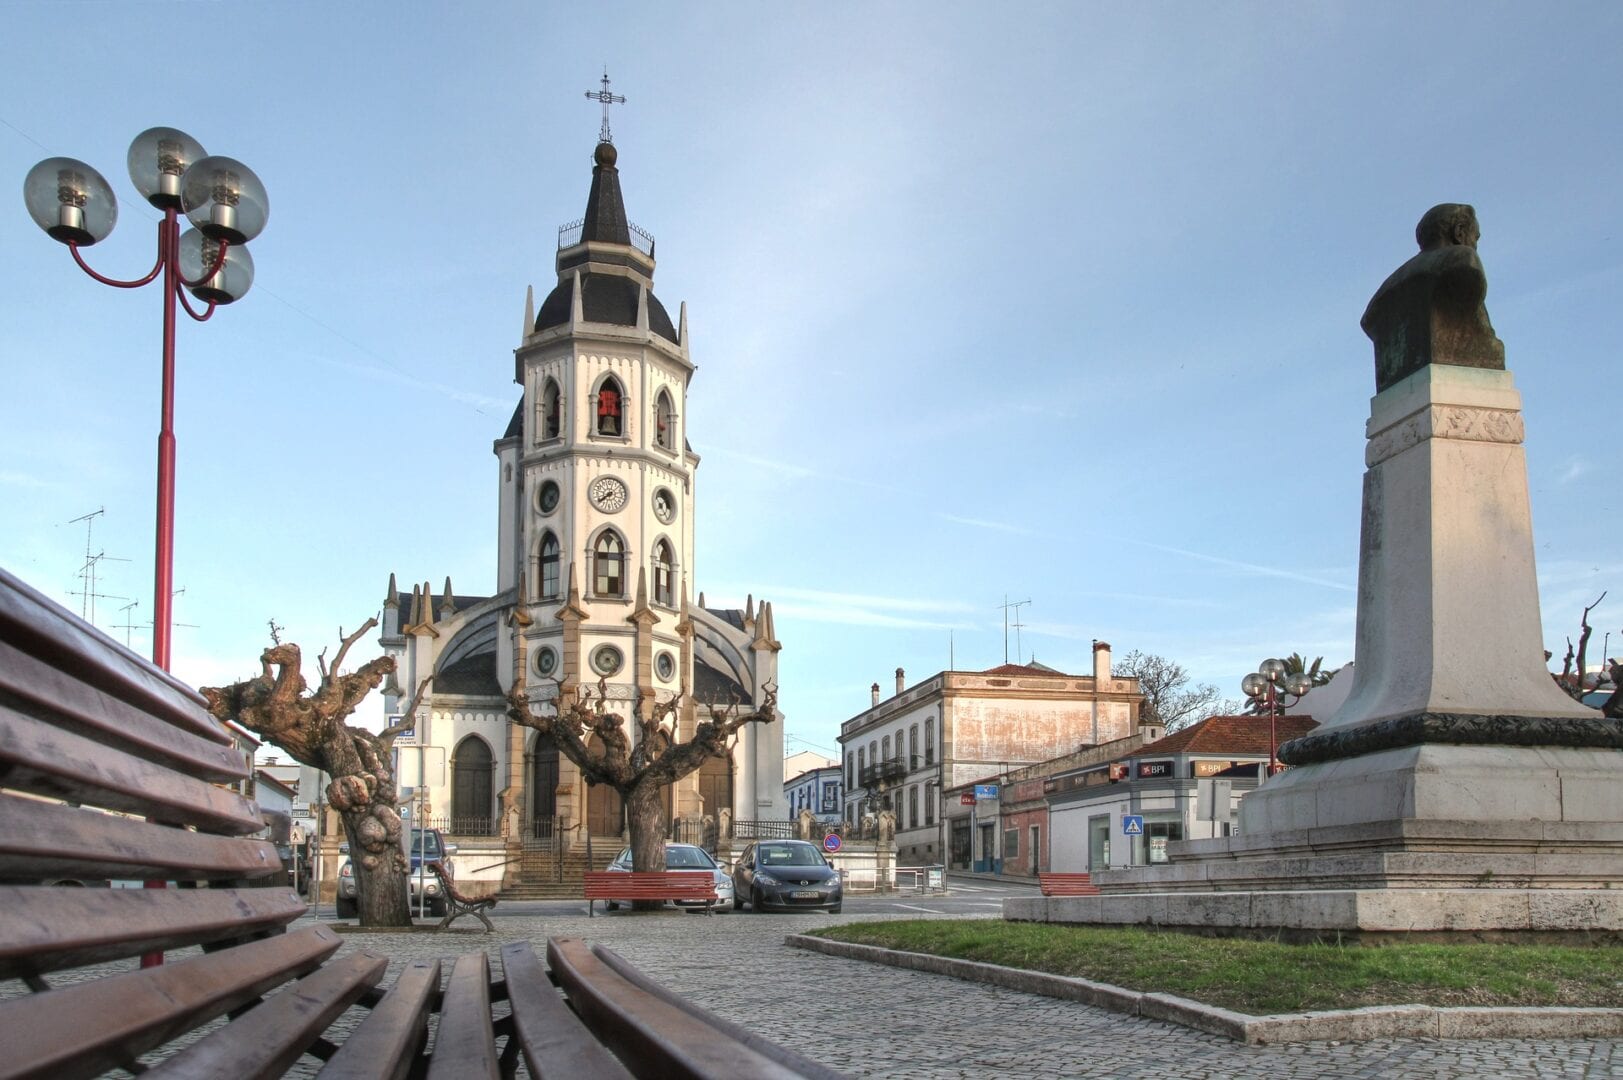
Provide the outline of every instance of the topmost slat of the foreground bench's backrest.
[[0,638],[179,728],[230,745],[230,732],[208,713],[201,693],[5,570]]

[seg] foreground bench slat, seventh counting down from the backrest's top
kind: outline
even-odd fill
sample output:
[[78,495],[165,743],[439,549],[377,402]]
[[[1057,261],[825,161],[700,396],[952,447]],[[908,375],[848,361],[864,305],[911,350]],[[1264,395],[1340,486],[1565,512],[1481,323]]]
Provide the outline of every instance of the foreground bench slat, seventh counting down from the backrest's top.
[[341,957],[157,1064],[146,1075],[177,1080],[273,1080],[299,1061],[305,1048],[341,1012],[377,986],[388,966],[388,957],[377,953]]

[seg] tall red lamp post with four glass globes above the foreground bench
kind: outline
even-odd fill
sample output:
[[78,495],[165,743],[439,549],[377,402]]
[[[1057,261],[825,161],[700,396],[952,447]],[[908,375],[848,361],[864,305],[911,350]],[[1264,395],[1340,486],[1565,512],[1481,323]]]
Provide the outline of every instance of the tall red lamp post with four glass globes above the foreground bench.
[[[265,185],[240,161],[211,158],[196,140],[175,128],[149,128],[130,143],[130,180],[146,201],[164,211],[157,222],[157,261],[133,281],[91,270],[81,247],[112,232],[118,201],[91,166],[73,158],[47,158],[23,180],[28,213],[45,234],[68,245],[73,261],[96,281],[138,289],[162,276],[164,357],[162,416],[157,430],[157,544],[153,575],[153,663],[169,671],[175,555],[175,300],[187,315],[206,322],[214,309],[240,300],[253,284],[253,260],[243,247],[265,229],[269,200]],[[180,214],[195,226],[180,232]],[[185,291],[203,300],[192,307]]]

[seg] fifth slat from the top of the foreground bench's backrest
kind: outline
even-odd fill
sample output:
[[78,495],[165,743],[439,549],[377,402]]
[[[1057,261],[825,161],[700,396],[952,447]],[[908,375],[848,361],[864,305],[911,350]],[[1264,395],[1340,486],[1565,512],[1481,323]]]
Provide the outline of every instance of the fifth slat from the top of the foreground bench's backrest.
[[307,909],[291,888],[0,885],[0,978],[247,937]]

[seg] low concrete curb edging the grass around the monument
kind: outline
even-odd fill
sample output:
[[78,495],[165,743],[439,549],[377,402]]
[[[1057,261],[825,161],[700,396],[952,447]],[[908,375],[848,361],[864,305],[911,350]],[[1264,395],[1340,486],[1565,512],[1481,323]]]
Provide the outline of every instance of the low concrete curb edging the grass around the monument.
[[930,953],[899,952],[878,945],[836,942],[808,934],[790,934],[784,944],[828,957],[865,960],[911,971],[948,974],[971,983],[988,983],[1011,991],[1042,994],[1097,1005],[1130,1017],[1162,1020],[1196,1031],[1220,1035],[1235,1043],[1258,1046],[1277,1043],[1358,1043],[1367,1039],[1599,1039],[1623,1036],[1623,1009],[1540,1009],[1540,1007],[1459,1007],[1373,1005],[1251,1017],[1217,1009],[1175,994],[1141,994],[1109,983],[1063,974],[1003,968],[974,960],[951,960]]

